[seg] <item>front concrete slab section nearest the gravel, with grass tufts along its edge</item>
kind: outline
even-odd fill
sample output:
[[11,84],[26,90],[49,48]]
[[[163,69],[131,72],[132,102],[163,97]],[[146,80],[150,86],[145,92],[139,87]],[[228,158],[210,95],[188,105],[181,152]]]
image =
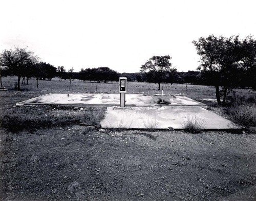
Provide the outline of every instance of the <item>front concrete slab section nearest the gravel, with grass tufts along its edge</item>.
[[206,130],[239,129],[238,125],[201,107],[108,107],[104,119],[100,122],[102,128],[146,129],[151,126],[156,129],[182,129],[187,118],[197,117],[205,124]]

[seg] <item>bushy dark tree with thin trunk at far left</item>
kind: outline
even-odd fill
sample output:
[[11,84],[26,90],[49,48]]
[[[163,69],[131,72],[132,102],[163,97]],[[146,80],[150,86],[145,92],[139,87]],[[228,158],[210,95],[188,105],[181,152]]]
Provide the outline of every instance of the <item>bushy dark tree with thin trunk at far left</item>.
[[37,60],[38,58],[34,56],[33,52],[19,47],[15,47],[14,50],[5,49],[0,55],[1,66],[18,77],[18,90],[20,90],[20,78],[24,76],[28,68],[37,63]]

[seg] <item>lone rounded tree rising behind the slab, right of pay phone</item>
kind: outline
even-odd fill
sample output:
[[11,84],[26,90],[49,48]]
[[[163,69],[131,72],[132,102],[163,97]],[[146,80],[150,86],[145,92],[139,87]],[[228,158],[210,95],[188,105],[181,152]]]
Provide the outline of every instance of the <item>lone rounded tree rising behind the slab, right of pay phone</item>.
[[147,82],[158,83],[158,90],[160,90],[160,83],[172,66],[172,63],[169,62],[170,59],[172,58],[169,55],[153,56],[140,67],[140,72],[144,74]]

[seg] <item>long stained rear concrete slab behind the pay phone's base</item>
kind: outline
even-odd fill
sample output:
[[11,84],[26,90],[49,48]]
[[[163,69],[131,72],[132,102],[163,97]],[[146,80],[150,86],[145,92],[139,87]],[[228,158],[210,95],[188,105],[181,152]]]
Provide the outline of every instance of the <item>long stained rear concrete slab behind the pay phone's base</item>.
[[[157,102],[165,101],[168,106],[196,106],[204,107],[205,104],[194,101],[185,96],[162,96],[145,94],[125,94],[126,106],[155,106]],[[74,106],[119,106],[120,94],[61,94],[53,93],[31,98],[16,105],[74,105]]]

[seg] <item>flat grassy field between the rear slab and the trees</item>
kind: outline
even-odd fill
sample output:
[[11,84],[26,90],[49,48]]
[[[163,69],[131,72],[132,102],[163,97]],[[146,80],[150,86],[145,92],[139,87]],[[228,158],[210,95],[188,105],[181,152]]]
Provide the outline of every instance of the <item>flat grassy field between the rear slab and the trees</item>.
[[[14,89],[16,78],[3,78],[3,85],[7,89]],[[161,85],[162,88],[162,85]],[[114,83],[98,83],[96,91],[96,82],[81,82],[72,80],[71,89],[69,90],[69,80],[59,81],[55,78],[53,81],[38,81],[38,89],[36,88],[36,80],[29,80],[29,85],[20,84],[20,89],[34,96],[44,95],[47,93],[119,93],[118,82]],[[129,82],[127,83],[127,93],[161,93],[158,91],[158,85],[154,83]],[[214,86],[202,85],[186,85],[186,84],[164,84],[164,93],[184,93],[190,98],[215,98]],[[233,89],[241,94],[254,93],[246,89]]]

